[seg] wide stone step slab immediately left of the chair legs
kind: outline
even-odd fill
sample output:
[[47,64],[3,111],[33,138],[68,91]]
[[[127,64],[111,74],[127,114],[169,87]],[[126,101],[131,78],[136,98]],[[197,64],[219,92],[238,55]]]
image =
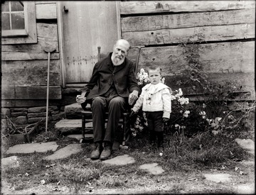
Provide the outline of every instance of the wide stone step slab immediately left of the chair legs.
[[[92,128],[92,122],[85,123],[85,128]],[[65,118],[55,123],[55,129],[65,134],[81,133],[82,120]]]

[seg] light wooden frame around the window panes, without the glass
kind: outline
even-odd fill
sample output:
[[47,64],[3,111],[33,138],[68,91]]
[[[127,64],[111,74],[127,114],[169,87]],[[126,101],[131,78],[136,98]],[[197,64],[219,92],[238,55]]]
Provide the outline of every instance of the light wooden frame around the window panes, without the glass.
[[37,43],[35,1],[23,1],[25,30],[2,30],[1,44]]

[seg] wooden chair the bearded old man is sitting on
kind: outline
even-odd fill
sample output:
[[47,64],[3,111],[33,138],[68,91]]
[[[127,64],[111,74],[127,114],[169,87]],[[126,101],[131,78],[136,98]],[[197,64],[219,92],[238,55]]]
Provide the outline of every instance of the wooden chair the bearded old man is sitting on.
[[[103,56],[102,56],[103,57]],[[101,54],[100,54],[100,47],[98,47],[98,55],[97,55],[97,60],[99,61],[101,58]],[[137,63],[138,64],[138,63]],[[136,69],[135,71],[137,71],[137,64],[136,64]],[[82,113],[82,139],[80,140],[80,143],[83,143],[86,141],[85,138],[85,133],[87,132],[91,132],[92,128],[85,128],[85,124],[87,121],[92,121],[92,111],[90,108],[85,108],[85,110],[81,111]],[[107,115],[108,113],[106,113],[106,122],[107,122]],[[129,111],[124,111],[121,114],[121,118],[119,120],[119,123],[122,123],[122,145],[125,145],[125,143],[129,140],[129,137],[131,135],[130,130],[129,130]],[[87,129],[87,130],[86,130]]]

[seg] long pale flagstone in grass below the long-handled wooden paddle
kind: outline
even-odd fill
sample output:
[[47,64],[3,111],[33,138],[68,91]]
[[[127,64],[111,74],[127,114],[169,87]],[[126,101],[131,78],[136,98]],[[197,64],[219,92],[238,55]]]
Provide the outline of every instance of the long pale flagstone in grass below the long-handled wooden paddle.
[[26,144],[18,144],[6,151],[6,154],[16,154],[16,153],[33,153],[33,152],[47,152],[48,150],[55,151],[57,150],[58,145],[56,142],[48,142],[48,143],[26,143]]

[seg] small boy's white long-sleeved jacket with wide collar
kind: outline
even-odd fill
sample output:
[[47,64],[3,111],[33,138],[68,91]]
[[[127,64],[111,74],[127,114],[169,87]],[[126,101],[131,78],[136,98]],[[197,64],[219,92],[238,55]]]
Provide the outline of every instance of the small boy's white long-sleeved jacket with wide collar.
[[[148,94],[151,94],[150,104],[146,98]],[[139,108],[142,108],[142,111],[164,111],[163,118],[170,118],[171,88],[162,83],[146,84],[132,110],[137,112]]]

